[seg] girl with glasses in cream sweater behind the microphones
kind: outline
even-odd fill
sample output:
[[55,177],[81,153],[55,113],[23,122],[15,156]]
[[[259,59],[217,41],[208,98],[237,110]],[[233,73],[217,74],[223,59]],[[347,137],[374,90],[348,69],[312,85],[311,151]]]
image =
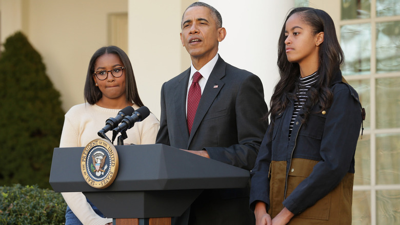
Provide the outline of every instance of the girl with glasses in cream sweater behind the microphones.
[[[108,118],[132,106],[143,106],[137,92],[135,77],[128,55],[116,46],[102,47],[89,62],[84,89],[86,103],[75,105],[65,115],[60,147],[84,147],[99,138],[97,132]],[[154,144],[159,122],[150,114],[127,130],[126,143]],[[110,133],[107,134],[110,139]],[[62,193],[68,207],[65,224],[112,224],[81,193]]]

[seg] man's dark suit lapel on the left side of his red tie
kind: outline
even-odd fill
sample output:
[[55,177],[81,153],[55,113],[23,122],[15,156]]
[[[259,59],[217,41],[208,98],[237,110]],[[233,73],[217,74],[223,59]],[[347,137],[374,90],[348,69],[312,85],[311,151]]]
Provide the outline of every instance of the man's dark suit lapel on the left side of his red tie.
[[186,95],[188,90],[188,82],[190,76],[190,68],[184,72],[184,76],[175,86],[174,94],[174,108],[177,124],[175,124],[179,130],[181,130],[182,138],[189,140],[188,122],[186,120]]

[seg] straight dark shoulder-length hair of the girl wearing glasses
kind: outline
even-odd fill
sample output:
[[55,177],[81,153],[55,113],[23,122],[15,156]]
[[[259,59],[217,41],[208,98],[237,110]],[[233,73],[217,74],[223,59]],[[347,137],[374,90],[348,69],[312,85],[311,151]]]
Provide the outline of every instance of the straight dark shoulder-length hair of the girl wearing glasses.
[[128,55],[121,48],[116,46],[107,46],[99,48],[96,52],[94,52],[92,58],[89,61],[88,73],[86,76],[85,89],[84,89],[84,97],[85,100],[93,105],[98,100],[100,100],[103,96],[102,91],[98,87],[95,86],[95,82],[93,80],[94,73],[94,64],[96,63],[97,58],[101,57],[104,54],[115,54],[121,62],[124,64],[124,72],[125,72],[125,93],[126,93],[126,101],[134,102],[139,107],[143,106],[141,98],[139,98],[139,93],[137,92],[135,76],[133,74],[132,64],[128,58]]

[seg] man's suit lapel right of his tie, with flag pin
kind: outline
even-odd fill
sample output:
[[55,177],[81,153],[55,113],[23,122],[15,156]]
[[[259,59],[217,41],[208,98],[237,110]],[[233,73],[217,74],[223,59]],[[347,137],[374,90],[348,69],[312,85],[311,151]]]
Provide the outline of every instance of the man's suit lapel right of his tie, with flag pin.
[[221,91],[225,84],[223,81],[221,81],[221,79],[225,76],[225,68],[225,61],[221,57],[218,57],[218,61],[216,62],[214,69],[207,80],[206,86],[203,90],[202,98],[197,106],[196,116],[193,120],[192,132],[190,133],[189,137],[188,148],[193,136],[196,134],[198,126],[203,121],[207,111],[214,102],[214,99],[217,97],[219,91]]

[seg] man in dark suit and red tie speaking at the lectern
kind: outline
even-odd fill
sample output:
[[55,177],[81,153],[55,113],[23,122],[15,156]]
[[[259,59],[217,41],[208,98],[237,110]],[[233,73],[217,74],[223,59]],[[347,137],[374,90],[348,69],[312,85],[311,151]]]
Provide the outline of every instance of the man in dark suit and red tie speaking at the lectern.
[[[217,54],[226,30],[213,7],[193,3],[181,25],[192,65],[163,84],[156,143],[251,170],[268,126],[261,80]],[[248,205],[249,187],[207,190],[172,223],[254,224]]]

